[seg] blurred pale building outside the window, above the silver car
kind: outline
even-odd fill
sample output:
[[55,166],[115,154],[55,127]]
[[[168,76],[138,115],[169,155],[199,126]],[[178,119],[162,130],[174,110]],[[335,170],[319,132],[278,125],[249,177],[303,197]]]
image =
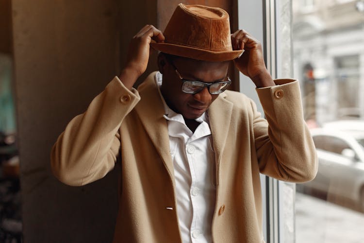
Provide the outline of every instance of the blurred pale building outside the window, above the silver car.
[[293,1],[306,120],[364,119],[364,0]]

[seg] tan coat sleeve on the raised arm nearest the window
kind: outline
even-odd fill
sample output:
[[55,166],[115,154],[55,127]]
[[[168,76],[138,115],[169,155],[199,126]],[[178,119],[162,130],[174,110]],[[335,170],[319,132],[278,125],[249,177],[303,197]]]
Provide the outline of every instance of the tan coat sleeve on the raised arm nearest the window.
[[275,80],[277,86],[257,88],[265,119],[254,110],[254,138],[263,174],[305,182],[317,173],[317,156],[310,131],[303,119],[297,80]]

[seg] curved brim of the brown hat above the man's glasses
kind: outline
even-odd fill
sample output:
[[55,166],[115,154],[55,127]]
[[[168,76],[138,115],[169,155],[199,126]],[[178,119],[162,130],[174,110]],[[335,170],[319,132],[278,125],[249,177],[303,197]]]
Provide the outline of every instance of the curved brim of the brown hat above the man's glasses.
[[213,52],[195,47],[180,46],[169,43],[150,43],[150,46],[155,50],[172,54],[176,56],[183,56],[191,59],[210,61],[210,62],[223,62],[230,61],[239,57],[244,50]]

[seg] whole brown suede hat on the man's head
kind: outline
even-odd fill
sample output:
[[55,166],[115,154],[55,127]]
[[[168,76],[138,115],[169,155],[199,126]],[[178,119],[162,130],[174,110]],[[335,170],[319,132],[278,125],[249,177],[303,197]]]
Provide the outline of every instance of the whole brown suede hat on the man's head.
[[197,60],[229,61],[244,51],[232,51],[229,14],[221,8],[180,3],[163,35],[154,49]]

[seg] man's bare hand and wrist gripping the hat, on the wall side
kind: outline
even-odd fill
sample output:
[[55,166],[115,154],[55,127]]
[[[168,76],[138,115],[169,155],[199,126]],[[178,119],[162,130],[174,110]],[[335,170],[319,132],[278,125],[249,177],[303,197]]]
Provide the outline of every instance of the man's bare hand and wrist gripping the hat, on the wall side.
[[148,66],[150,42],[163,42],[165,36],[153,25],[144,26],[129,45],[127,62],[121,71],[120,80],[129,89],[132,89],[137,78],[142,75]]

